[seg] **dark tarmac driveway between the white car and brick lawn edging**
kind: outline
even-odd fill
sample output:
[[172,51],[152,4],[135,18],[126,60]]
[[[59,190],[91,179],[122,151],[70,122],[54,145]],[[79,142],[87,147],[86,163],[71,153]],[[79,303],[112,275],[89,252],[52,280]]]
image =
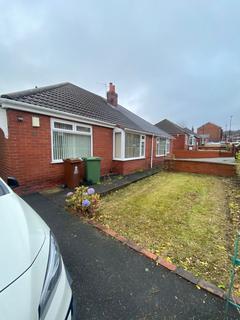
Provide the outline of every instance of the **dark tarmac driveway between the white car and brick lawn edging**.
[[[73,278],[77,319],[224,319],[224,301],[66,213],[40,194],[24,199],[55,233]],[[231,309],[229,319],[239,319]]]

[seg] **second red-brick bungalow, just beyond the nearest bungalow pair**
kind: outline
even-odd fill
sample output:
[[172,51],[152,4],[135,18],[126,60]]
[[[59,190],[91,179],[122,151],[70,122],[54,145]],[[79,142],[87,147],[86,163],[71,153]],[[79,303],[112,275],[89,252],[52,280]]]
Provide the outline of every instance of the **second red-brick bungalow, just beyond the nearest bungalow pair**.
[[155,124],[159,129],[167,132],[175,139],[172,141],[172,151],[175,150],[196,150],[199,143],[199,136],[188,128],[183,128],[164,119]]

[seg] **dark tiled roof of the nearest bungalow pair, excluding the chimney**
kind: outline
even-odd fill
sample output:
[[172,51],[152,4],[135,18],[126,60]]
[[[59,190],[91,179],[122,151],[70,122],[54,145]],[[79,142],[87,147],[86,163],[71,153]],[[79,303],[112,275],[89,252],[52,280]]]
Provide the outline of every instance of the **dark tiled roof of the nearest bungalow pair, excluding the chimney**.
[[69,82],[3,94],[1,98],[108,122],[140,132],[169,137],[166,132],[159,130],[124,107],[120,105],[114,107],[107,103],[103,97]]

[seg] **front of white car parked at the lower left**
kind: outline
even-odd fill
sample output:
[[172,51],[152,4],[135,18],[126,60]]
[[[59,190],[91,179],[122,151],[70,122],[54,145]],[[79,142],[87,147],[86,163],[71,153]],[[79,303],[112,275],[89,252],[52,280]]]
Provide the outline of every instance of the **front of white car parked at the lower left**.
[[70,280],[54,235],[0,178],[0,319],[73,318]]

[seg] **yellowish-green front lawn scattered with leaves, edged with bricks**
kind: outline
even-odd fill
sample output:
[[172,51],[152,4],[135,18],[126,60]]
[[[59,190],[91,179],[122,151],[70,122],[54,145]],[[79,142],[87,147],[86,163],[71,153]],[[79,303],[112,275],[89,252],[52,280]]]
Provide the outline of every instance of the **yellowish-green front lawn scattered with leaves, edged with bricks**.
[[102,198],[95,219],[224,288],[239,222],[232,190],[229,179],[162,172]]

